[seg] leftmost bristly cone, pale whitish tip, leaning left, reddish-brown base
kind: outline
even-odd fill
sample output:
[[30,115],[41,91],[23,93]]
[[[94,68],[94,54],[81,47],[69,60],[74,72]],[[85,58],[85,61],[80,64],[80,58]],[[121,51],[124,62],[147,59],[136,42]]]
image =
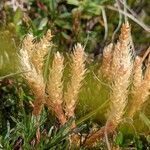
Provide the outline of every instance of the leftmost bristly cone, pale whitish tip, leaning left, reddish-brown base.
[[37,116],[41,113],[44,103],[45,84],[43,77],[37,73],[34,65],[30,62],[26,49],[20,50],[20,62],[21,69],[25,72],[24,77],[35,95],[33,114]]

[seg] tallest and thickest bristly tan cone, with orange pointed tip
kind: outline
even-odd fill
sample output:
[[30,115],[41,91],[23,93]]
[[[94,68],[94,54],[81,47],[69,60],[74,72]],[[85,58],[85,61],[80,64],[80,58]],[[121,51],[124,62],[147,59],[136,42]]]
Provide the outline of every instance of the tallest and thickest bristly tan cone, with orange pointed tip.
[[130,32],[129,24],[123,24],[113,52],[111,112],[107,123],[112,123],[115,127],[120,123],[128,102],[128,87],[133,66]]

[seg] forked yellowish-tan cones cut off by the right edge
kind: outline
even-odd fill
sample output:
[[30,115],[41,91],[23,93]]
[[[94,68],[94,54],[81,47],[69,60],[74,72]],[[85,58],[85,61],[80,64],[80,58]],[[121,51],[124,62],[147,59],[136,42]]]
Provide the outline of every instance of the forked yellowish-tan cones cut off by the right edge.
[[150,55],[148,58],[145,74],[142,73],[141,61],[139,62],[139,64],[136,65],[136,68],[134,69],[132,99],[128,111],[129,117],[133,118],[135,113],[142,108],[143,103],[145,103],[148,100],[149,90],[150,90]]

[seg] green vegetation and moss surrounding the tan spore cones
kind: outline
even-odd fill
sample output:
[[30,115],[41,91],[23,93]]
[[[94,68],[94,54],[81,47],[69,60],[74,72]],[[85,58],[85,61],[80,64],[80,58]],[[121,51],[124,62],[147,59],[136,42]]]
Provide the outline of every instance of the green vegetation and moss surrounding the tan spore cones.
[[[112,117],[113,121],[119,122],[116,126],[114,125],[115,129],[110,129],[113,132],[108,130],[108,137],[104,135],[99,138],[102,140],[97,141],[96,144],[92,143],[89,146],[90,142],[87,141],[99,130],[105,134],[103,127],[111,128],[111,124],[109,124],[110,112],[114,108],[111,94],[115,87],[115,79],[112,79],[113,82],[110,81],[102,71],[103,51],[109,43],[117,42],[121,25],[126,19],[132,29],[135,45],[134,55],[140,56],[141,59],[144,58],[141,67],[142,75],[144,79],[147,78],[145,74],[147,74],[150,59],[149,53],[146,55],[149,52],[147,48],[150,42],[150,2],[146,0],[128,0],[126,4],[121,0],[21,0],[20,2],[15,0],[16,3],[11,2],[11,0],[0,2],[0,150],[20,148],[25,150],[86,150],[110,149],[110,147],[111,149],[149,149],[149,94],[146,95],[145,92],[147,99],[143,104],[140,103],[142,109],[138,110],[138,105],[135,105],[137,111],[133,115],[134,117],[128,114],[130,110],[128,106],[130,104],[132,106],[131,100],[134,99],[132,75],[130,76],[131,83],[127,85],[129,95],[126,99],[129,100],[129,103],[125,104],[124,114],[120,116],[119,121]],[[83,81],[79,84],[79,87],[82,85],[80,90],[77,90],[78,98],[76,100],[77,106],[73,107],[75,109],[74,115],[67,117],[66,102],[61,102],[66,117],[64,124],[60,121],[57,110],[55,110],[57,105],[52,106],[48,102],[42,102],[44,106],[40,115],[33,114],[38,94],[36,95],[37,91],[34,91],[35,85],[32,86],[33,83],[26,76],[28,70],[22,67],[20,60],[20,50],[27,49],[26,45],[23,45],[27,34],[31,33],[35,37],[34,45],[43,40],[49,29],[53,37],[47,39],[50,42],[46,55],[45,52],[43,52],[44,56],[41,53],[41,57],[44,58],[42,65],[44,66],[43,84],[46,85],[44,89],[45,101],[47,97],[51,96],[48,90],[55,89],[55,87],[49,87],[49,89],[47,87],[48,85],[53,86],[49,73],[51,74],[54,58],[57,57],[55,56],[56,51],[59,51],[62,57],[64,56],[62,99],[64,99],[67,89],[71,88],[72,64],[75,57],[72,55],[72,51],[76,52],[74,45],[81,43],[86,55],[84,62],[86,73],[84,79],[81,77],[81,81]],[[34,50],[38,50],[38,48],[40,50],[42,44],[37,44]],[[32,55],[33,57],[35,55],[35,60],[38,60],[38,55]],[[32,61],[34,62],[34,60]],[[33,62],[32,64],[36,68],[37,64]],[[38,65],[40,63],[39,60]],[[113,71],[111,70],[111,72]],[[31,75],[34,78],[32,72]],[[120,75],[119,71],[117,75]],[[147,80],[147,83],[149,82]],[[147,88],[147,91],[150,89],[145,84],[143,85],[143,88],[138,88],[139,91],[144,88]],[[68,88],[68,86],[70,87]],[[51,93],[54,92],[57,95],[57,91]],[[124,103],[122,104],[124,105]],[[97,139],[95,138],[95,140]]]

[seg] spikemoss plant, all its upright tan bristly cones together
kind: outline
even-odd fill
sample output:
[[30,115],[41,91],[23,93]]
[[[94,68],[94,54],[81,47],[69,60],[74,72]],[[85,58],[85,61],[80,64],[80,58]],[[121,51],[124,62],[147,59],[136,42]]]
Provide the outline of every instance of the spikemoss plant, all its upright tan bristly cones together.
[[[77,44],[73,49],[73,54],[71,54],[71,77],[67,83],[66,90],[63,89],[65,61],[64,56],[59,52],[54,54],[52,66],[49,67],[48,81],[45,82],[43,78],[44,58],[48,53],[49,47],[53,45],[51,39],[50,31],[39,42],[35,42],[32,35],[27,35],[20,50],[20,62],[21,69],[25,71],[24,77],[35,95],[33,115],[39,116],[43,105],[46,105],[48,109],[54,112],[62,126],[70,118],[76,116],[75,109],[79,92],[82,87],[84,89],[83,83],[86,84],[86,79],[84,78],[88,69],[86,67],[84,48],[81,44]],[[131,27],[126,22],[122,25],[118,42],[116,44],[111,43],[104,48],[102,65],[98,71],[104,78],[108,79],[107,85],[110,88],[108,90],[110,92],[108,94],[110,109],[107,114],[106,124],[98,131],[91,132],[84,140],[84,146],[91,147],[98,140],[104,137],[107,139],[107,135],[113,133],[124,118],[126,108],[129,108],[128,116],[133,118],[136,111],[140,110],[143,103],[147,100],[150,89],[150,58],[143,74],[143,59],[141,61],[138,56],[136,58],[134,56]],[[99,80],[95,73],[92,76],[96,78],[98,84],[102,85],[104,83]],[[131,86],[133,88],[131,88],[132,92],[130,93],[129,87]],[[101,91],[101,86],[98,88]],[[90,93],[90,87],[87,87],[87,89],[87,92]],[[130,102],[132,104],[130,107],[128,106],[129,94],[131,95]],[[101,96],[103,95],[99,93],[98,97]],[[94,100],[92,103],[94,103]],[[75,127],[76,124],[74,122],[70,129]],[[70,137],[70,143],[73,143],[73,140],[76,144],[79,143],[80,136],[71,134]]]

